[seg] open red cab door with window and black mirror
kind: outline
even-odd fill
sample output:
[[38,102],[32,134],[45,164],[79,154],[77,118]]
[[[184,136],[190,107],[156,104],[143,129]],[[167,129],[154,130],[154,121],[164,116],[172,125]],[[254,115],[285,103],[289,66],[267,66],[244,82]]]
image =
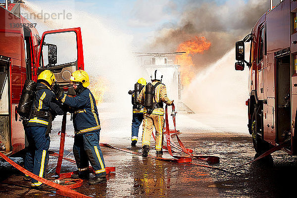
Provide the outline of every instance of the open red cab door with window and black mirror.
[[[43,33],[38,55],[38,74],[49,69],[60,86],[68,86],[72,72],[84,69],[80,28],[51,30]],[[69,94],[74,94],[69,87]]]

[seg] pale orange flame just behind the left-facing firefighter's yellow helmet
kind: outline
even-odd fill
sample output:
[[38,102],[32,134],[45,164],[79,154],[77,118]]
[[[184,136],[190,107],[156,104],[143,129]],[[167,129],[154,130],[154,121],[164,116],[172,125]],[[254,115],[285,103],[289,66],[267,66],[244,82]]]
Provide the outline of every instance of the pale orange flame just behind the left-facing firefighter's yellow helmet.
[[107,81],[104,80],[103,78],[93,78],[91,79],[91,84],[89,86],[90,91],[92,92],[96,104],[98,105],[99,103],[103,102],[103,96],[104,93],[107,90]]

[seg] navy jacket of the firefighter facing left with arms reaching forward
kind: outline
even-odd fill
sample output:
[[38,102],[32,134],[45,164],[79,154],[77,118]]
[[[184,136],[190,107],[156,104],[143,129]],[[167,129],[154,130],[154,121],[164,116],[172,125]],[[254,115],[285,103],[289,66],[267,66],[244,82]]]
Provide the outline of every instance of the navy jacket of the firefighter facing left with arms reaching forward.
[[73,126],[75,134],[96,132],[101,129],[96,101],[89,89],[75,97],[62,94],[61,101],[74,108]]

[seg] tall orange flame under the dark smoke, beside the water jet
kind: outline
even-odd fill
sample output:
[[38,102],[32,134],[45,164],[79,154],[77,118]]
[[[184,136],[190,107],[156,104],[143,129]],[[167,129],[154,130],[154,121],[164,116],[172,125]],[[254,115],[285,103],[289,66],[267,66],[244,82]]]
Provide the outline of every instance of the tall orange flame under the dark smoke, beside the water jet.
[[178,51],[185,51],[186,53],[178,57],[178,64],[181,65],[181,79],[184,85],[189,85],[191,80],[196,76],[197,69],[192,60],[192,56],[197,53],[203,53],[209,49],[211,43],[206,41],[205,37],[197,37],[181,43],[178,47]]

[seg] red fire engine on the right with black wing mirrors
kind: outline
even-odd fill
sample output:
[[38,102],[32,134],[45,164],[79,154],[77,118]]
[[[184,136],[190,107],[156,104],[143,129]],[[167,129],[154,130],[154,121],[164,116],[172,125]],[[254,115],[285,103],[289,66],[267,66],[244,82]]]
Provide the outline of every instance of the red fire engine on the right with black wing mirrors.
[[[249,62],[245,42],[250,42]],[[297,1],[283,0],[257,21],[243,41],[236,42],[236,70],[249,68],[248,131],[262,153],[288,142],[297,154]]]

